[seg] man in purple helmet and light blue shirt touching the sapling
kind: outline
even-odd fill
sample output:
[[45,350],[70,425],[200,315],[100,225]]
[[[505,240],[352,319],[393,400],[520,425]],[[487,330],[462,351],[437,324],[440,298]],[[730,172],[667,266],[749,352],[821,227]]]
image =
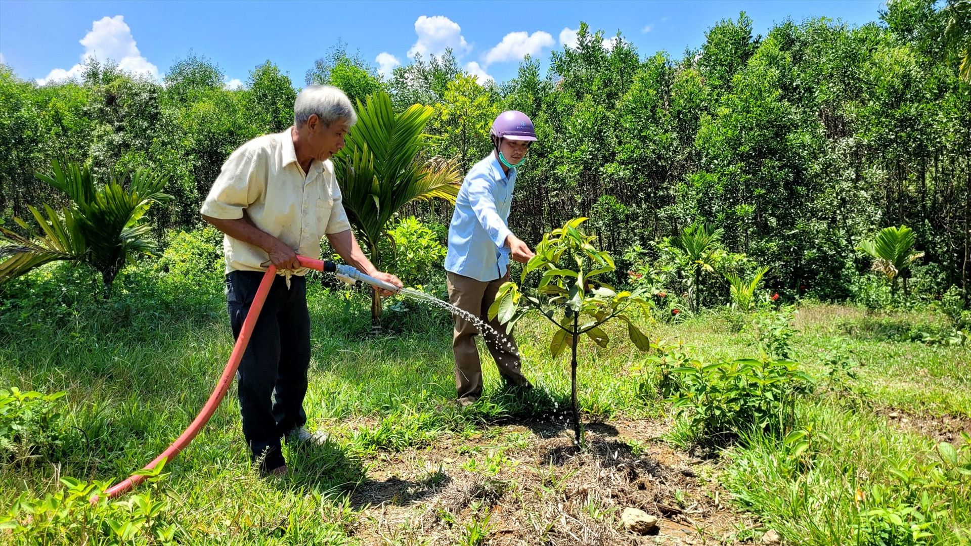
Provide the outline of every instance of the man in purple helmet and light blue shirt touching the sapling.
[[[504,112],[492,123],[493,150],[465,176],[455,198],[449,226],[449,254],[445,270],[452,305],[480,317],[495,331],[480,332],[471,321],[455,317],[452,355],[458,403],[467,407],[482,396],[483,372],[475,336],[483,333],[485,346],[499,374],[514,388],[531,389],[520,370],[519,350],[498,320],[489,323],[488,308],[509,280],[509,260],[525,263],[533,252],[509,229],[510,205],[516,187],[516,166],[536,140],[533,122],[525,114]],[[485,328],[487,330],[487,328]]]

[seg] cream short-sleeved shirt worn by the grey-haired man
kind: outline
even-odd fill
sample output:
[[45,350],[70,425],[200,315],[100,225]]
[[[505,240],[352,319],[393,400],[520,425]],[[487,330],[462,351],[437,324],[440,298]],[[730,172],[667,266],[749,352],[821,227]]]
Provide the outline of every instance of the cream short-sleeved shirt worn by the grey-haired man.
[[[304,173],[293,150],[292,127],[282,133],[252,139],[222,164],[201,213],[221,220],[247,218],[259,229],[283,241],[300,256],[320,256],[320,239],[351,229],[341,203],[341,189],[330,159],[314,160]],[[266,271],[263,249],[223,238],[226,273]],[[305,275],[308,269],[289,272]]]

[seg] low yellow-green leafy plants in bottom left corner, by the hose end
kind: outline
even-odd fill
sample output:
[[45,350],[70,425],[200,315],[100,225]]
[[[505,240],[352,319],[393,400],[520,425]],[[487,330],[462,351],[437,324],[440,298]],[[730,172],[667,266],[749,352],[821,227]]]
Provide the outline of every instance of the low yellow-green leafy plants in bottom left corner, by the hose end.
[[[164,461],[154,470],[142,470],[156,485]],[[151,490],[124,500],[111,500],[109,482],[61,478],[64,489],[43,498],[24,492],[7,514],[0,515],[0,532],[17,545],[51,544],[175,544],[176,525],[166,513],[168,499]],[[97,502],[91,502],[94,495]]]

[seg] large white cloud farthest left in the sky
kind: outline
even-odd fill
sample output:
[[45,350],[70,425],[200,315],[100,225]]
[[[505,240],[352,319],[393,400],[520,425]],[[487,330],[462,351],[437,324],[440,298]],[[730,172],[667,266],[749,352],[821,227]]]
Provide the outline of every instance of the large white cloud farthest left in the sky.
[[118,68],[122,70],[151,76],[151,78],[158,80],[158,67],[151,64],[138,51],[135,39],[131,35],[131,28],[124,22],[122,16],[102,17],[94,21],[91,30],[81,39],[81,45],[84,46],[81,63],[74,65],[69,70],[55,68],[50,71],[47,78],[39,79],[37,83],[45,85],[48,82],[81,76],[84,70],[84,62],[92,57],[100,60],[115,60],[118,63]]

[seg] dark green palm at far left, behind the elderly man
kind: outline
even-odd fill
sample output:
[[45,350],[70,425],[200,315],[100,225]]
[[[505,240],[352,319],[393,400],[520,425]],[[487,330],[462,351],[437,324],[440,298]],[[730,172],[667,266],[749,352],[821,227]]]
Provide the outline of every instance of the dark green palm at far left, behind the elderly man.
[[127,188],[125,177],[113,178],[97,188],[86,166],[68,163],[61,169],[53,162],[51,176],[37,178],[60,189],[71,198],[71,204],[58,217],[50,205],[44,205],[45,216],[28,207],[40,227],[35,231],[27,222],[14,219],[26,231],[20,235],[0,227],[0,283],[55,260],[84,262],[101,273],[104,297],[111,295],[115,277],[125,261],[139,254],[153,254],[148,238],[151,224],[144,216],[152,203],[170,199],[162,193],[165,177],[139,169]]

